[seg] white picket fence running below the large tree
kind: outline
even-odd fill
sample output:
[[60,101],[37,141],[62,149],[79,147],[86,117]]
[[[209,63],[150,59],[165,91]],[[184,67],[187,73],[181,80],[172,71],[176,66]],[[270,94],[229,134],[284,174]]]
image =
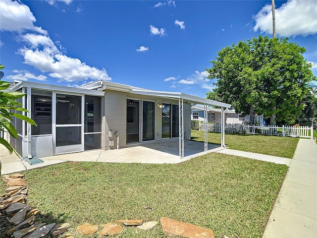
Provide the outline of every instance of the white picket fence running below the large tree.
[[[221,124],[207,124],[208,132],[221,132]],[[204,130],[204,123],[199,124],[199,130]],[[280,135],[304,137],[313,139],[313,126],[258,126],[245,124],[225,124],[225,133]]]

